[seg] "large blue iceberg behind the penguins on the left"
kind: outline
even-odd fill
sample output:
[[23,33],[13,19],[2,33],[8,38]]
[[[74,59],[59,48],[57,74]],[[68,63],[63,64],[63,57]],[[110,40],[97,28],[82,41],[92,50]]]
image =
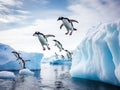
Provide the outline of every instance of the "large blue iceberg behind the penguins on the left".
[[[21,69],[21,66],[19,62],[16,60],[16,57],[13,53],[11,53],[14,50],[12,47],[0,43],[0,70],[19,70]],[[26,53],[22,51],[20,52],[20,56],[24,60],[31,60],[29,62],[26,62],[26,68],[29,69],[40,69],[40,61],[43,57],[42,53]]]

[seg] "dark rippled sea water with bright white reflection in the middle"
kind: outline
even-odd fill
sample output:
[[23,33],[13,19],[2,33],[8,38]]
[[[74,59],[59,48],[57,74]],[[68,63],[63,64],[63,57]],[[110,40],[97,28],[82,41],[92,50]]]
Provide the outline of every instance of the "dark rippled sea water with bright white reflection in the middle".
[[0,90],[120,90],[120,87],[86,79],[71,78],[70,66],[44,63],[34,76],[19,76],[16,80],[0,79]]

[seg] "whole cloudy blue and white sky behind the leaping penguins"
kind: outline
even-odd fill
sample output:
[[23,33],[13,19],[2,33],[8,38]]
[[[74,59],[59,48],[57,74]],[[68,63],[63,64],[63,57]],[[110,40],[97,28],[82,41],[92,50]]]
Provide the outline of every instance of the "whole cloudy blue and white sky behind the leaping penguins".
[[[120,19],[120,0],[0,0],[0,43],[16,50],[44,53],[45,57],[58,54],[53,39],[57,39],[69,51],[83,40],[87,31],[99,23],[111,23]],[[72,36],[60,30],[58,17],[75,19],[77,31]],[[43,51],[35,31],[53,34],[48,38],[51,50]]]

